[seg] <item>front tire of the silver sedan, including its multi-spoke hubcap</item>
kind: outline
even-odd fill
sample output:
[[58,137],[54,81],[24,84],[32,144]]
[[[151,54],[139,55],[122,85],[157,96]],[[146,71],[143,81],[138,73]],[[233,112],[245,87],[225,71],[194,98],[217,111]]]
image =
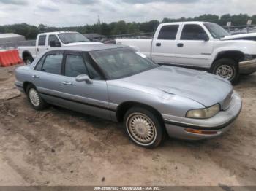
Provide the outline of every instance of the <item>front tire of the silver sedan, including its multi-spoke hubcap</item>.
[[124,115],[124,130],[129,139],[140,147],[153,149],[159,146],[165,139],[165,128],[156,116],[142,107],[129,109]]

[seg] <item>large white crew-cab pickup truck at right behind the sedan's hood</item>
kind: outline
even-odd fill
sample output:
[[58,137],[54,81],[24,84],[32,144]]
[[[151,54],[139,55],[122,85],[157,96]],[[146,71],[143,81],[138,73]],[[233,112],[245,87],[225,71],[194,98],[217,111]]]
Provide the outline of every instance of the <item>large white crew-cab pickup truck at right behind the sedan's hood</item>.
[[116,39],[116,44],[135,47],[159,64],[203,69],[235,83],[239,74],[256,71],[256,42],[225,36],[215,23],[163,23],[153,39]]

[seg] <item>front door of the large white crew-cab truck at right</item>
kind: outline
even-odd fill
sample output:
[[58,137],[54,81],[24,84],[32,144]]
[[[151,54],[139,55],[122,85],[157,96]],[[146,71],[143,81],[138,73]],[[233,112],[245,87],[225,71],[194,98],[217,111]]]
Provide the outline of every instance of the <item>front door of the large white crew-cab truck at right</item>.
[[176,42],[176,64],[209,68],[213,42],[198,24],[184,24]]

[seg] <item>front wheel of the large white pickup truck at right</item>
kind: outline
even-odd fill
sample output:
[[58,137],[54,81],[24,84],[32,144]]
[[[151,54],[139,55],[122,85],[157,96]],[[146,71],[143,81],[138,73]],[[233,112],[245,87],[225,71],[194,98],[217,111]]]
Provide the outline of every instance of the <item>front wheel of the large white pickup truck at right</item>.
[[238,63],[230,58],[219,59],[214,62],[211,73],[225,78],[235,85],[239,78]]

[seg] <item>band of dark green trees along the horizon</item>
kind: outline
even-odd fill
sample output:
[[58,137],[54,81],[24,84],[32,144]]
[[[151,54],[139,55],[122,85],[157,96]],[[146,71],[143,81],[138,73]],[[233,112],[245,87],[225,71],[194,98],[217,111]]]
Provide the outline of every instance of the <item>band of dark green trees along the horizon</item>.
[[[247,14],[239,15],[200,15],[198,17],[181,17],[177,19],[164,18],[161,23],[169,22],[181,22],[181,21],[208,21],[212,23],[217,23],[220,26],[226,26],[227,22],[232,22],[233,26],[246,25],[247,20],[251,19],[252,24],[256,24],[256,15],[251,17]],[[139,33],[151,33],[157,29],[159,25],[158,20],[151,20],[143,23],[126,23],[124,20],[113,22],[113,23],[101,23],[94,25],[85,26],[72,26],[72,27],[49,27],[44,24],[37,26],[31,26],[26,23],[0,26],[0,33],[15,33],[26,37],[26,39],[36,39],[37,34],[42,32],[50,31],[78,31],[81,34],[97,33],[106,36],[118,35],[118,34],[139,34]]]

